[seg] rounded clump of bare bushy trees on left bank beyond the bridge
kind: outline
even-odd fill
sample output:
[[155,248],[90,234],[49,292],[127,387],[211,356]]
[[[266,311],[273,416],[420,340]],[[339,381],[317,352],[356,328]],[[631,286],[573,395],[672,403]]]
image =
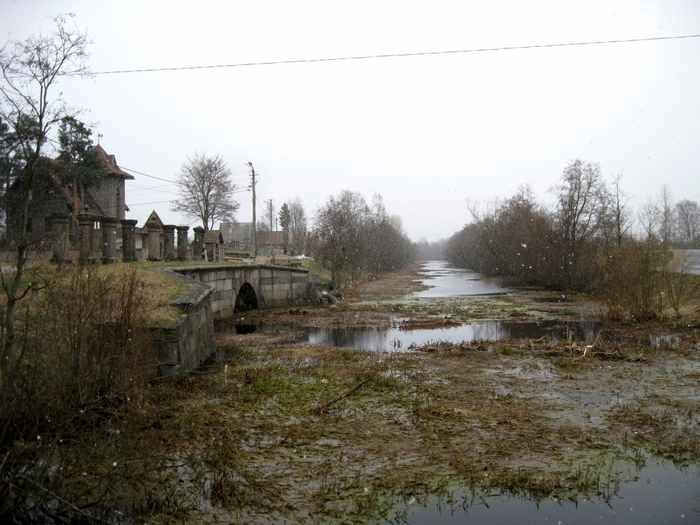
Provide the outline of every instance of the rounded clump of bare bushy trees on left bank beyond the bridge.
[[401,219],[388,214],[382,197],[375,195],[370,206],[349,190],[329,197],[318,209],[307,250],[331,271],[339,288],[366,275],[402,268],[414,257]]

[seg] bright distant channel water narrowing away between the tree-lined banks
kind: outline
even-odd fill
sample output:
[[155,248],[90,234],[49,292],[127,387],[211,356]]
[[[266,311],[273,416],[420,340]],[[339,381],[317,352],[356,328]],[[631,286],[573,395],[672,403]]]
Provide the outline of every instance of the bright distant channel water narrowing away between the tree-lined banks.
[[493,295],[510,290],[497,281],[484,279],[470,270],[453,268],[447,261],[428,261],[421,273],[429,289],[413,294],[416,297],[460,297],[463,295]]

